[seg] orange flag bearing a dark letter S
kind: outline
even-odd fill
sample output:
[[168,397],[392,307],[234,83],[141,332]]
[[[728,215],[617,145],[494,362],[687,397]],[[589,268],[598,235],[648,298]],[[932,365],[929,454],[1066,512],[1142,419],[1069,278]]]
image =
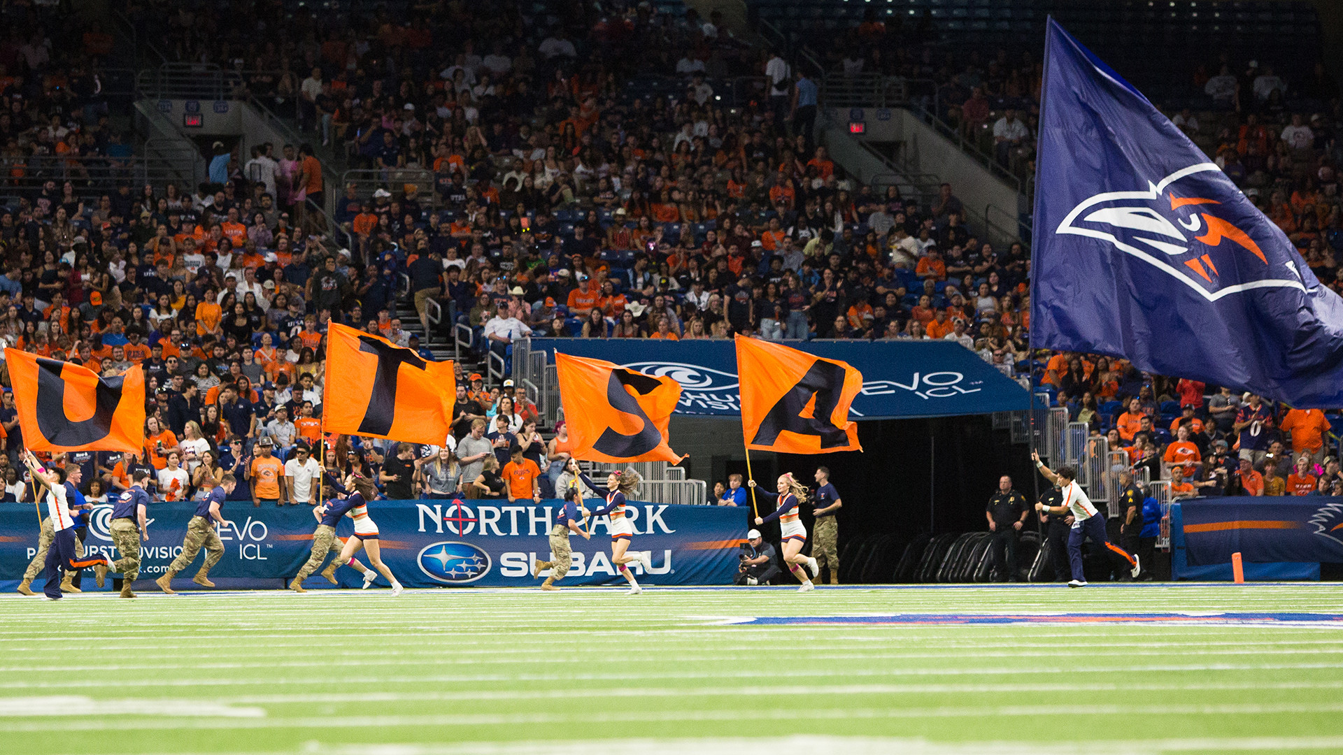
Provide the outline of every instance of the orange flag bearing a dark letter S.
[[614,463],[685,458],[667,446],[667,420],[681,400],[674,379],[560,352],[555,367],[573,458]]

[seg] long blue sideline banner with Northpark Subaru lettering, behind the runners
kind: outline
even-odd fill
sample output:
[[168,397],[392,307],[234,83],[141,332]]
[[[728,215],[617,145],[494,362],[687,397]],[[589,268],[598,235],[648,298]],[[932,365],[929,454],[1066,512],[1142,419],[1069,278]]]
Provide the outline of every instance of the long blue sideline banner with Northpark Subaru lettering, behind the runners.
[[[549,560],[548,535],[556,501],[512,505],[508,501],[373,501],[369,517],[377,523],[383,563],[407,587],[526,587],[532,563]],[[149,509],[149,541],[141,544],[140,586],[167,571],[181,552],[191,502],[157,502]],[[626,509],[635,536],[630,551],[647,552],[650,572],[631,566],[643,584],[728,584],[737,568],[737,544],[745,537],[745,516],[739,508],[677,506],[631,502]],[[85,547],[120,558],[109,535],[110,505],[94,509]],[[224,558],[210,572],[220,587],[282,587],[298,572],[312,551],[317,527],[309,506],[226,505],[232,527],[216,527]],[[32,504],[0,504],[0,588],[13,590],[38,548],[38,515]],[[353,532],[349,519],[337,535]],[[624,583],[611,564],[610,520],[590,520],[591,540],[573,535],[572,567],[561,584]],[[195,588],[204,553],[179,575],[175,587]],[[365,556],[359,556],[367,564]],[[337,570],[344,587],[357,587],[363,575]],[[543,576],[548,572],[543,572]],[[39,583],[46,579],[42,572]],[[381,584],[384,580],[379,578]],[[109,583],[110,584],[110,583]],[[306,587],[329,586],[310,579]],[[91,590],[93,582],[86,580]],[[152,587],[146,587],[152,588]]]

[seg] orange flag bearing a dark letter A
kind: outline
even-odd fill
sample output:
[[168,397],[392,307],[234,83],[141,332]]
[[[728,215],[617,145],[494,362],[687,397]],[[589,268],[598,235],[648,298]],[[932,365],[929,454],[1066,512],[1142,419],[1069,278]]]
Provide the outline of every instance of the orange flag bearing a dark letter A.
[[759,339],[736,337],[741,434],[748,449],[786,454],[861,451],[849,407],[862,373]]

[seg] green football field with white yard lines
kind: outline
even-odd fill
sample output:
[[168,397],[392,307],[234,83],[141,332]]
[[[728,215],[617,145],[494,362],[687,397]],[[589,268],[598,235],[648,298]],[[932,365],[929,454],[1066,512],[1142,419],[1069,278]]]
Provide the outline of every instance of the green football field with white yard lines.
[[1343,586],[0,598],[3,752],[1343,752]]

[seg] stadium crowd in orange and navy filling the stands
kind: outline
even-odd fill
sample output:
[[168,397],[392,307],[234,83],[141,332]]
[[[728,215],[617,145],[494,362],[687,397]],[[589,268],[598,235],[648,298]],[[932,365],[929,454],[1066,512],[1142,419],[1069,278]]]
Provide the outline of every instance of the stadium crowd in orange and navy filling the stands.
[[[85,202],[77,187],[87,185],[73,176],[0,208],[0,337],[102,375],[145,368],[153,403],[144,453],[74,459],[90,465],[85,480],[101,478],[105,492],[148,465],[163,496],[201,496],[232,470],[248,482],[234,498],[310,501],[310,485],[285,485],[295,462],[297,481],[312,476],[304,470],[314,465],[295,458],[301,447],[325,454],[328,465],[376,470],[393,497],[530,497],[530,481],[540,493],[552,490],[563,431],[544,441],[529,425],[537,415],[525,395],[508,384],[486,388],[475,375],[459,375],[461,415],[443,449],[320,442],[326,324],[430,356],[428,344],[403,328],[400,302],[414,302],[423,332],[435,337],[469,325],[479,355],[506,356],[529,333],[955,340],[1009,375],[1034,371],[1074,418],[1119,433],[1111,447],[1131,449],[1135,465],[1189,470],[1195,485],[1214,480],[1218,466],[1228,468],[1228,485],[1241,478],[1218,457],[1218,441],[1252,451],[1256,474],[1287,481],[1293,465],[1273,441],[1307,450],[1317,439],[1283,408],[1252,414],[1249,426],[1228,420],[1225,410],[1205,414],[1203,395],[1180,388],[1189,382],[1121,361],[1033,359],[1026,249],[978,238],[950,184],[920,202],[851,180],[794,118],[814,105],[815,83],[741,44],[717,19],[662,16],[643,4],[606,16],[575,4],[545,17],[510,3],[441,3],[406,19],[380,11],[369,23],[342,24],[282,8],[259,5],[251,26],[208,4],[132,3],[128,13],[158,24],[173,55],[239,71],[247,93],[293,116],[313,144],[255,145],[250,156],[216,148],[211,173],[219,180],[193,189],[120,181]],[[880,31],[862,30],[855,34]],[[880,35],[873,39],[855,50],[880,58]],[[729,107],[708,75],[741,63],[759,66],[770,91]],[[107,126],[83,58],[66,58],[35,28],[27,43],[0,47],[0,64],[11,171],[42,150],[109,163],[125,153],[129,140]],[[1007,105],[1031,112],[1038,75],[1029,60],[976,66],[971,58],[968,74],[950,86],[975,83],[968,99],[988,91],[1007,118]],[[684,89],[631,93],[620,82],[638,73],[681,77]],[[1250,91],[1258,89],[1250,82]],[[1233,103],[1257,110],[1244,114],[1246,122],[1287,113],[1248,101]],[[960,117],[968,118],[966,109]],[[1193,113],[1179,118],[1198,132]],[[1252,189],[1254,181],[1281,187],[1261,196],[1265,210],[1291,228],[1312,269],[1339,285],[1335,120],[1330,112],[1281,133],[1226,132],[1245,149],[1219,149],[1218,160],[1232,159],[1234,175],[1242,153],[1279,156],[1244,180]],[[1316,130],[1320,121],[1327,125]],[[385,179],[371,196],[361,185],[333,187],[341,193],[336,235],[294,222],[330,179],[314,157],[318,142],[344,145],[353,165]],[[432,185],[398,180],[407,168],[428,172]],[[438,318],[430,302],[446,316]],[[1179,437],[1174,416],[1190,412],[1179,404],[1167,411],[1175,396],[1201,425],[1190,438]],[[1128,398],[1139,400],[1150,429],[1132,411],[1121,416],[1128,407],[1115,402]],[[1206,402],[1209,411],[1217,400]],[[0,423],[15,453],[21,438],[12,396]],[[1275,438],[1280,431],[1291,435]],[[1176,455],[1167,459],[1171,447]],[[16,477],[12,461],[7,473]],[[1260,469],[1268,461],[1273,469]],[[1338,465],[1332,473],[1323,457],[1312,465],[1323,465],[1312,485],[1334,485]],[[513,486],[513,473],[528,482]]]

